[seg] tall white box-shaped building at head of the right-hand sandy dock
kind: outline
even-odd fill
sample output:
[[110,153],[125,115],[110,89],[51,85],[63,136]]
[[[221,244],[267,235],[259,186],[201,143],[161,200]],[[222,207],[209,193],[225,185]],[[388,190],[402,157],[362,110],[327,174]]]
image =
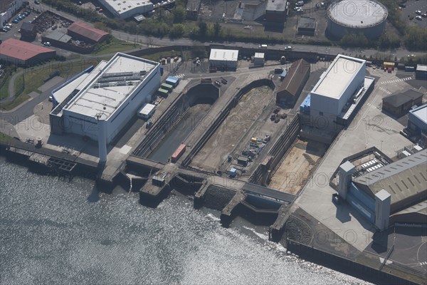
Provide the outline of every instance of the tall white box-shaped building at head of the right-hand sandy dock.
[[332,127],[337,116],[352,103],[352,98],[364,88],[366,61],[339,54],[320,76],[310,92],[312,120]]

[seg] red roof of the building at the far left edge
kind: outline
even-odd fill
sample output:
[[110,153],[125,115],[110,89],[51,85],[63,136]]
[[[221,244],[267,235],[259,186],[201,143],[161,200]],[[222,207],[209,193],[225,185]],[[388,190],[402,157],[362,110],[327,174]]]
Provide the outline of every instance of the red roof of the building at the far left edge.
[[16,58],[21,61],[31,59],[40,53],[55,52],[55,50],[51,48],[45,48],[44,46],[36,46],[33,43],[19,41],[15,38],[8,38],[6,41],[3,41],[3,43],[1,43],[0,47],[0,54],[2,56],[9,56],[11,58]]

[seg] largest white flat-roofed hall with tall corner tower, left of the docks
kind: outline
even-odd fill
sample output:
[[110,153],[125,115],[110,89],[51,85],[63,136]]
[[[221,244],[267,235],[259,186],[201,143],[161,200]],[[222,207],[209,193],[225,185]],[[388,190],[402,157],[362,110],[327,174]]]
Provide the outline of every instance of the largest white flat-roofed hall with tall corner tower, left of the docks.
[[106,145],[152,100],[160,78],[159,63],[116,53],[54,90],[51,133],[97,140],[105,161]]

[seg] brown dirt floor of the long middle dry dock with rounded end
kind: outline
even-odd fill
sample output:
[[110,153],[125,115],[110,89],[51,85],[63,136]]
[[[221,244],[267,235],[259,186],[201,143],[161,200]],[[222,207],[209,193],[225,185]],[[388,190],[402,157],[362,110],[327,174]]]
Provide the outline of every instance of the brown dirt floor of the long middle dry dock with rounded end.
[[263,113],[263,109],[273,99],[274,93],[267,86],[253,88],[242,96],[238,105],[231,110],[214,135],[194,157],[191,165],[214,171],[226,162],[228,155],[241,138],[248,132],[253,122]]

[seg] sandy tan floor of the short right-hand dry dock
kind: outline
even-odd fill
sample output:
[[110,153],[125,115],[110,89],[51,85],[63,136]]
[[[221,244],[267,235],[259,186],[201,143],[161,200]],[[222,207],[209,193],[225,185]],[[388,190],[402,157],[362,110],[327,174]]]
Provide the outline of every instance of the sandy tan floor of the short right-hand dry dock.
[[297,140],[279,165],[268,187],[296,195],[310,177],[312,167],[326,150],[327,145],[320,142]]

